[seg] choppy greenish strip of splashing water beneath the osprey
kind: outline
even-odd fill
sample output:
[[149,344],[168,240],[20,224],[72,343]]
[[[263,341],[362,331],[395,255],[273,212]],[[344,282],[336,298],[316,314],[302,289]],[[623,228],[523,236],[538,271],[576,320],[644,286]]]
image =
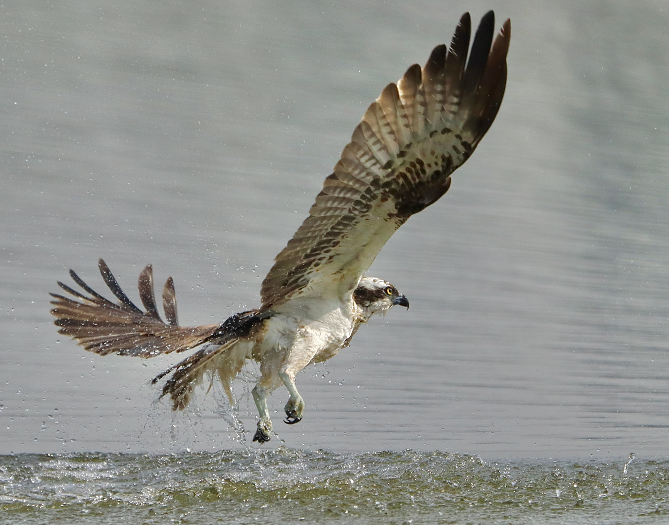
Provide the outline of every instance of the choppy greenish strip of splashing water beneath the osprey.
[[278,449],[0,457],[3,523],[662,523],[669,462]]

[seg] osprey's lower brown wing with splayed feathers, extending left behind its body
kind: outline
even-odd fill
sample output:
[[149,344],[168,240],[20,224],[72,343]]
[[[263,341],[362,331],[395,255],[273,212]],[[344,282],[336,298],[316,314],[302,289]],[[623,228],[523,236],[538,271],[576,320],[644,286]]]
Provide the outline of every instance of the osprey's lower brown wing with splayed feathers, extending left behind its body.
[[[172,278],[167,279],[163,290],[163,308],[167,323],[161,319],[153,292],[153,269],[147,266],[139,276],[139,295],[147,311],[136,307],[122,291],[104,260],[98,262],[104,282],[116,296],[119,303],[112,303],[89,287],[70,270],[70,276],[84,291],[86,296],[60,281],[58,285],[69,295],[56,293],[52,301],[58,333],[76,338],[79,344],[95,352],[106,355],[112,352],[123,356],[150,358],[170,352],[184,352],[211,340],[221,339],[223,325],[180,327],[177,323],[177,298]],[[225,337],[223,337],[225,339]]]

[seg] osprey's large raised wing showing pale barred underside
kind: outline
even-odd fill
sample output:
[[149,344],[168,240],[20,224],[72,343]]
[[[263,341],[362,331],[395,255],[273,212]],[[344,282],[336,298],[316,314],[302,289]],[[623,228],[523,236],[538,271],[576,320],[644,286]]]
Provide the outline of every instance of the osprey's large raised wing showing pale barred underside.
[[476,31],[465,13],[450,49],[411,66],[367,109],[316,196],[308,218],[262,283],[262,307],[297,297],[345,297],[409,216],[436,202],[450,174],[492,124],[506,86],[507,20],[492,44],[494,14]]

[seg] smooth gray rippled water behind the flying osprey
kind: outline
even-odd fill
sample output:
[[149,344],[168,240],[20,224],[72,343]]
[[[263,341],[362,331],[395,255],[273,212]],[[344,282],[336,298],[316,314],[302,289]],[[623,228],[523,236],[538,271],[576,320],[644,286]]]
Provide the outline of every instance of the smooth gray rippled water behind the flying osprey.
[[264,446],[666,458],[663,1],[4,3],[0,453],[239,447],[215,396],[155,402],[177,357],[84,352],[47,292],[104,287],[102,256],[131,297],[147,263],[172,275],[184,325],[255,307],[367,105],[490,8],[498,117],[370,271],[411,309],[300,374],[300,425],[275,392]]

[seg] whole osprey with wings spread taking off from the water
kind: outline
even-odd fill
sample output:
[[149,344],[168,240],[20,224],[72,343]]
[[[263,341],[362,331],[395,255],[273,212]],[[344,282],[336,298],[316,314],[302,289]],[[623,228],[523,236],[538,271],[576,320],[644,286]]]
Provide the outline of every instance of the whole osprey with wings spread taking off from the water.
[[150,358],[201,347],[153,380],[171,374],[161,396],[170,396],[173,410],[187,406],[205,375],[221,382],[234,405],[231,383],[246,360],[255,360],[260,378],[252,394],[260,417],[254,441],[272,435],[267,396],[281,385],[290,394],[285,422],[298,423],[304,400],[297,372],[349,346],[373,315],[393,305],[409,307],[393,285],[365,272],[399,226],[448,191],[451,173],[488,131],[506,86],[510,29],[507,20],[493,44],[494,13],[488,12],[467,60],[471,21],[465,13],[450,48],[437,46],[423,68],[414,64],[385,87],[353,131],[308,218],[276,256],[258,309],[220,324],[181,327],[171,277],[163,290],[163,321],[151,265],[139,276],[142,310],[100,259],[100,273],[118,303],[70,270],[88,295],[58,283],[70,296],[51,294],[59,333],[101,355]]

